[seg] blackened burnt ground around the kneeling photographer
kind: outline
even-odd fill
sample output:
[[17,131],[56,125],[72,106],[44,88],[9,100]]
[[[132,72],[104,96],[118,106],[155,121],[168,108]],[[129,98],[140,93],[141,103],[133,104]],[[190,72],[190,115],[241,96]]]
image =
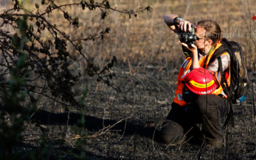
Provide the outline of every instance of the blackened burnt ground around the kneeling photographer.
[[[84,79],[77,86],[86,85],[88,88],[85,99],[87,159],[198,158],[202,141],[196,143],[191,139],[184,140],[181,145],[163,145],[157,140],[161,124],[175,96],[178,70],[172,69],[175,65],[170,65],[172,68],[155,66],[133,67],[136,71],[134,75],[130,74],[127,65],[113,68],[116,77],[111,83],[119,86],[123,92],[116,92],[106,84],[97,83],[95,77]],[[235,127],[228,127],[228,134],[225,134],[226,147],[204,148],[201,150],[201,159],[256,159],[252,100],[251,93],[246,102],[234,106]],[[42,126],[49,129],[49,157],[75,159],[70,150],[78,152],[74,126],[83,111],[71,108],[67,121],[67,111],[58,104],[45,101],[39,107],[42,111],[33,115],[33,118],[40,120]],[[108,126],[113,127],[107,130]],[[38,127],[27,124],[23,135],[24,152],[39,147],[41,132]]]

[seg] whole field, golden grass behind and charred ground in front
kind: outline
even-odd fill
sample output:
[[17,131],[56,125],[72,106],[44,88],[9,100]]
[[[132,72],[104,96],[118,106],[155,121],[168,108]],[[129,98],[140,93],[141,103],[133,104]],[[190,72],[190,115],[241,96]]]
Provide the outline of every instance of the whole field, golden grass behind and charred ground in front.
[[[36,3],[37,1],[31,1]],[[73,1],[70,1],[73,2]],[[106,84],[97,83],[95,77],[86,75],[86,62],[74,53],[77,63],[74,72],[84,76],[74,90],[88,88],[85,99],[86,111],[86,155],[88,159],[198,159],[200,143],[163,145],[153,140],[157,137],[165,117],[171,109],[175,96],[176,77],[184,59],[177,36],[170,32],[163,15],[175,13],[191,22],[202,19],[216,20],[229,40],[236,40],[246,52],[250,77],[255,81],[255,13],[254,1],[109,1],[118,9],[135,10],[140,6],[152,6],[150,13],[131,17],[108,11],[106,20],[100,12],[81,8],[70,8],[72,16],[81,18],[79,28],[70,27],[56,13],[49,20],[70,33],[72,38],[97,35],[111,27],[104,39],[81,42],[83,51],[99,67],[103,67],[112,56],[118,64],[113,71],[111,83],[122,89],[116,92]],[[60,1],[61,3],[61,1]],[[34,4],[31,4],[34,7]],[[34,7],[35,10],[35,7]],[[53,13],[54,14],[54,13]],[[62,24],[63,23],[63,24]],[[49,38],[43,33],[45,40]],[[229,37],[228,37],[229,36]],[[69,48],[72,50],[72,47]],[[254,87],[254,88],[253,88]],[[227,145],[221,149],[202,150],[201,159],[255,159],[255,115],[253,115],[252,92],[241,106],[234,106],[235,127],[228,127]],[[254,102],[255,103],[255,102]],[[76,149],[77,120],[81,109],[69,109],[44,99],[38,104],[42,111],[33,118],[40,120],[49,129],[47,142],[52,159],[74,159]],[[69,116],[69,120],[68,120]],[[116,122],[118,122],[116,124]],[[114,126],[113,126],[114,125]],[[109,129],[109,126],[113,126]],[[102,133],[102,134],[100,134]],[[22,152],[39,148],[40,129],[26,124],[23,132]]]

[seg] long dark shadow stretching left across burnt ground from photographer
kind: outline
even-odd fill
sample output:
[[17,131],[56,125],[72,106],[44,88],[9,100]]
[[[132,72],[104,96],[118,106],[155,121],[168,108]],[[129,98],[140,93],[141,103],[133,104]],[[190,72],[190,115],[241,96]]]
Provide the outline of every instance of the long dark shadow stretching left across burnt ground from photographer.
[[[70,119],[68,121],[68,125],[77,125],[77,120],[81,119],[81,114],[70,113]],[[44,125],[60,125],[67,124],[68,113],[51,113],[49,111],[40,111],[35,113],[31,120],[38,120],[40,124]],[[84,116],[86,120],[85,127],[90,131],[99,131],[102,129],[102,122],[104,121],[104,126],[113,125],[118,120],[103,120],[102,118],[97,118],[94,116]],[[154,139],[159,141],[159,131],[156,127],[145,127],[145,124],[133,124],[131,122],[120,122],[115,125],[115,127],[111,128],[113,130],[119,130],[120,134],[123,134],[125,129],[125,135],[131,134],[139,134],[140,136],[152,138],[154,135]]]

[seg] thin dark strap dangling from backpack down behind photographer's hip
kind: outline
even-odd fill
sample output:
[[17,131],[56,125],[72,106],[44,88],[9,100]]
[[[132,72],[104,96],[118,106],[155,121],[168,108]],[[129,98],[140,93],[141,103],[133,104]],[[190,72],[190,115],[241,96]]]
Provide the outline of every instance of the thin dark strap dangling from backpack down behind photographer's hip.
[[[225,123],[222,126],[222,129],[225,129],[227,127],[227,124],[228,124],[229,121],[231,122],[232,127],[234,127],[235,125],[234,125],[232,102],[231,102],[231,99],[230,99],[230,93],[228,92],[228,88],[227,88],[228,83],[227,83],[227,80],[225,79],[224,74],[223,74],[222,61],[221,61],[220,56],[218,57],[218,63],[219,63],[218,71],[221,74],[220,84],[221,84],[221,87],[223,88],[224,92],[228,95],[227,96],[228,97],[228,103],[229,103],[229,106],[230,106],[230,111],[229,111],[228,116],[225,120]],[[223,84],[225,84],[225,85],[223,85]]]

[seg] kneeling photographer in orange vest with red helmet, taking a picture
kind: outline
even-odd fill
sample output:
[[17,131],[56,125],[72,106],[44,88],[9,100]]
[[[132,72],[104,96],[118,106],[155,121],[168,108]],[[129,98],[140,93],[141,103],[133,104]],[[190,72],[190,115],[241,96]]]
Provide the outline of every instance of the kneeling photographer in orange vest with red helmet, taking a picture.
[[201,20],[193,26],[178,15],[164,15],[164,22],[179,35],[191,34],[195,28],[195,38],[186,42],[190,36],[180,37],[180,41],[184,42],[179,43],[189,52],[189,56],[179,70],[176,97],[161,129],[162,139],[164,143],[179,144],[184,135],[189,135],[186,132],[192,132],[196,129],[195,124],[200,123],[206,144],[220,148],[223,144],[221,119],[227,118],[230,111],[227,95],[220,85],[220,74],[225,74],[230,85],[229,54],[224,52],[220,56],[223,73],[220,73],[217,59],[210,61],[221,46],[220,26],[213,20]]

